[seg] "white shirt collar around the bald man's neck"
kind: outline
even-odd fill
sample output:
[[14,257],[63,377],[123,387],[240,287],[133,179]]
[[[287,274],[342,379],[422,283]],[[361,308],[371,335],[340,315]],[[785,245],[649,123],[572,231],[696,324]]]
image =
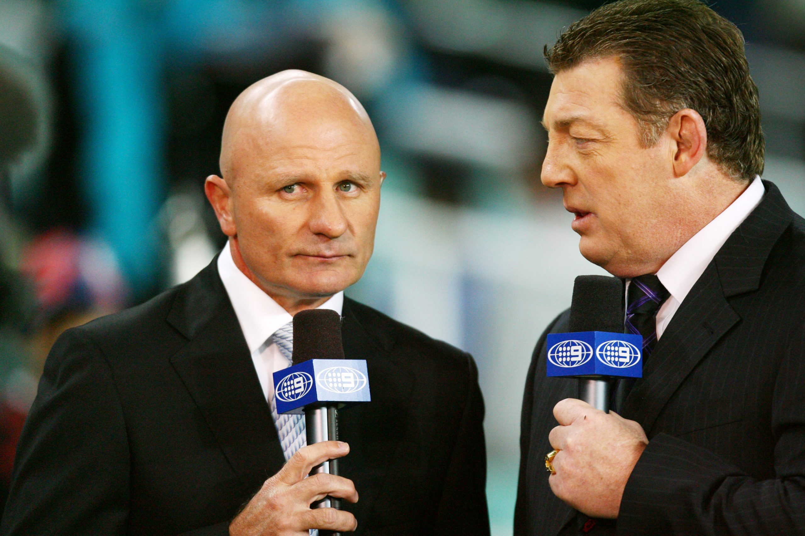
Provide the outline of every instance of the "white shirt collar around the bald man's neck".
[[[293,320],[281,305],[262,291],[252,280],[237,268],[232,259],[229,243],[218,256],[218,274],[229,294],[241,325],[246,346],[250,352],[258,350],[274,332]],[[344,307],[344,291],[333,294],[316,309],[332,309],[338,314]]]

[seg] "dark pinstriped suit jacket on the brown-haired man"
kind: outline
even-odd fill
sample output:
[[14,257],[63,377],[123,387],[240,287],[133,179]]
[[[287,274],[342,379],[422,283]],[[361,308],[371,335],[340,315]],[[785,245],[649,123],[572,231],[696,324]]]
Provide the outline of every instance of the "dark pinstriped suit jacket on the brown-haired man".
[[[621,414],[649,444],[617,534],[805,534],[805,221],[765,182],[671,319]],[[563,313],[548,332],[568,329]],[[548,486],[555,403],[539,340],[522,406],[515,534],[554,536],[575,516]],[[598,526],[588,534],[605,534]]]

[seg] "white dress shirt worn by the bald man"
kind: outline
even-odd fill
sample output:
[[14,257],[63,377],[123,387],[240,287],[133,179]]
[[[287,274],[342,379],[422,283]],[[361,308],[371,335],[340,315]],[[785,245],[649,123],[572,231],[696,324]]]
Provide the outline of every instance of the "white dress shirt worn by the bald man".
[[[292,321],[293,317],[237,268],[229,243],[218,256],[218,273],[235,309],[243,337],[246,338],[246,346],[249,347],[254,370],[257,370],[262,394],[266,396],[266,401],[270,401],[274,396],[272,374],[288,366],[288,360],[271,340],[271,335]],[[341,314],[343,307],[344,293],[340,292],[333,294],[317,309],[332,309]]]

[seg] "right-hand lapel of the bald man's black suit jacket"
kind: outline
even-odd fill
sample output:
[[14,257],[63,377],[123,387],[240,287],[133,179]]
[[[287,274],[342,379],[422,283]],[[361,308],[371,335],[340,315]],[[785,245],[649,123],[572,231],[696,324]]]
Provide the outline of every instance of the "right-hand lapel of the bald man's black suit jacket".
[[[372,401],[339,411],[339,438],[349,443],[349,455],[341,461],[341,475],[355,483],[361,500],[346,505],[366,526],[386,473],[406,433],[415,378],[394,355],[388,333],[370,335],[350,306],[344,303],[342,338],[347,359],[365,359]],[[374,335],[374,337],[373,337]],[[403,356],[404,357],[404,356]]]

